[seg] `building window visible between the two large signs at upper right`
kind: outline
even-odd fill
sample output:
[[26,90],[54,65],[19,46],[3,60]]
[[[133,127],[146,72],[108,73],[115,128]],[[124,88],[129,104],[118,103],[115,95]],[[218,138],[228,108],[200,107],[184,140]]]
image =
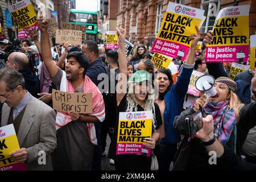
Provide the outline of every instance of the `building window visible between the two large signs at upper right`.
[[220,0],[202,0],[201,9],[204,10],[204,16],[207,18],[201,27],[201,32],[207,33],[212,30],[218,11],[220,11],[220,5]]

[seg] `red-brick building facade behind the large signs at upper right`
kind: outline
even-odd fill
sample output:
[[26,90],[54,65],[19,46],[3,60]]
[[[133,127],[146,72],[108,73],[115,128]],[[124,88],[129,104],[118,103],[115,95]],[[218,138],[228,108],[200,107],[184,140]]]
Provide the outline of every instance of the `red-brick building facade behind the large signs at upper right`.
[[[117,26],[124,27],[127,31],[126,38],[130,41],[139,40],[143,44],[154,42],[160,28],[164,13],[168,6],[168,0],[118,0]],[[256,30],[256,1],[253,0],[171,0],[205,10],[207,16],[209,3],[220,9],[234,5],[250,5],[250,34]],[[213,5],[214,4],[214,5]],[[212,29],[215,16],[207,17],[201,28],[202,37],[204,33]]]

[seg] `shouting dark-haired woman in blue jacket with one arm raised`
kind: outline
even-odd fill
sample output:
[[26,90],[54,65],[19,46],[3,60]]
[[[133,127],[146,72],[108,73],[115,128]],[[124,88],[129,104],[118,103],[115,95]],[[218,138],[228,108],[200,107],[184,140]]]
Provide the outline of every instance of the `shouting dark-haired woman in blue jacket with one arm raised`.
[[155,88],[158,90],[159,96],[156,102],[160,107],[164,126],[160,127],[160,147],[158,152],[159,170],[168,171],[171,162],[174,160],[177,144],[180,142],[180,133],[174,131],[174,117],[180,115],[181,107],[185,94],[188,90],[189,80],[194,67],[196,44],[200,39],[200,30],[196,27],[197,34],[190,36],[192,39],[191,48],[188,52],[187,59],[183,64],[183,71],[177,79],[175,85],[171,73],[159,70],[155,77]]

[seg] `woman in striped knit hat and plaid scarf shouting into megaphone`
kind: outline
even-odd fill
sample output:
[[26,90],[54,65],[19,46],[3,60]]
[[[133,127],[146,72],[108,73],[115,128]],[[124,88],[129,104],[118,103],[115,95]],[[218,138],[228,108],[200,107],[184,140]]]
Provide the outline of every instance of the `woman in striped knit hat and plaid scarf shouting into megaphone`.
[[[175,118],[175,130],[185,136],[176,154],[175,170],[196,170],[209,167],[209,155],[205,152],[204,146],[208,146],[216,139],[226,144],[236,154],[237,126],[238,121],[242,121],[240,119],[243,107],[235,93],[236,82],[228,77],[218,77],[214,88],[217,90],[216,97],[207,99],[207,96],[202,94],[195,104]],[[195,119],[195,114],[200,111],[202,117],[212,115],[214,121],[214,134],[207,142],[201,142],[195,137],[197,130],[201,127],[200,122]],[[190,119],[191,125],[188,124],[187,118]]]

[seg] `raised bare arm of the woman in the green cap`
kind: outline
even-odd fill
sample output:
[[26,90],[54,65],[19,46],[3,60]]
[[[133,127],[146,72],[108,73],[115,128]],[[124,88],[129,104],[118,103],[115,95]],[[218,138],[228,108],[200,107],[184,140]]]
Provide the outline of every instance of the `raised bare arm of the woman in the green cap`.
[[[125,35],[126,30],[123,28],[117,28],[117,35],[118,35],[118,64],[119,64],[119,80],[117,84],[117,106],[120,104],[122,98],[125,96],[125,93],[118,90],[121,88],[120,85],[125,87],[127,86],[127,60],[125,54]],[[122,89],[125,90],[126,89]]]

